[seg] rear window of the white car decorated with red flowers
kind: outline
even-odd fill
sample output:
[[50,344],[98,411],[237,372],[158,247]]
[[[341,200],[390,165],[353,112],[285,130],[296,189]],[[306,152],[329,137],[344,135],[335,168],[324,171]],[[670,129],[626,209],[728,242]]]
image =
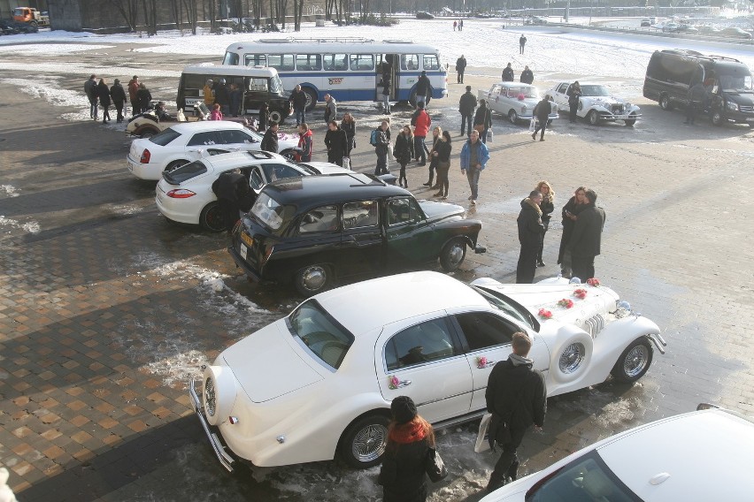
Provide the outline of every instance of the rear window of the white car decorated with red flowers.
[[338,369],[353,344],[353,335],[317,300],[306,300],[289,316],[289,330],[327,366]]

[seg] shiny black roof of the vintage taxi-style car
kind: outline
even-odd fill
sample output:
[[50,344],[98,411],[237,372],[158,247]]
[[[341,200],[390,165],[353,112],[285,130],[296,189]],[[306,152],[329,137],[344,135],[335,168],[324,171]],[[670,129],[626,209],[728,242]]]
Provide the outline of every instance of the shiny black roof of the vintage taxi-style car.
[[399,186],[388,185],[371,175],[353,171],[281,179],[266,185],[263,192],[282,205],[294,204],[299,208],[311,207],[312,204],[321,206],[358,199],[411,195],[411,192]]

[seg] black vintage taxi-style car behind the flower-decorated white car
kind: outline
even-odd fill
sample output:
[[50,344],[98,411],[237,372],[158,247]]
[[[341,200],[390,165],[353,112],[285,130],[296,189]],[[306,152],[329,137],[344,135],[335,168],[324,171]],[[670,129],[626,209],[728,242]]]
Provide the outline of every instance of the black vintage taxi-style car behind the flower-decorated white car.
[[228,251],[255,281],[293,283],[309,296],[337,278],[387,273],[440,259],[458,269],[481,222],[455,204],[358,172],[268,184],[233,233]]

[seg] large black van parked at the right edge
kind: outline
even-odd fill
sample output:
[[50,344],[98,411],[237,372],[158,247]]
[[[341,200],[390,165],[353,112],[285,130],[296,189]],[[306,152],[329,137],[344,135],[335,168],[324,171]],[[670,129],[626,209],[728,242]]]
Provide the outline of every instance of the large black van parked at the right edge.
[[689,103],[689,88],[702,82],[707,89],[705,106],[712,124],[724,122],[754,127],[754,87],[749,68],[738,59],[704,56],[695,50],[656,50],[647,66],[644,97],[663,110]]

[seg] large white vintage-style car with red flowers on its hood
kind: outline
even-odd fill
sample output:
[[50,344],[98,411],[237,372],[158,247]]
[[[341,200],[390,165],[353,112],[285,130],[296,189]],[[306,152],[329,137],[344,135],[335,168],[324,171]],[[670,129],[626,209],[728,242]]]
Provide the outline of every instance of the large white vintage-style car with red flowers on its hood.
[[[377,307],[396,292],[403,300]],[[228,470],[238,459],[273,467],[336,453],[365,468],[384,452],[396,396],[411,396],[438,428],[481,417],[489,373],[511,353],[516,331],[533,338],[529,356],[550,396],[611,374],[633,382],[665,343],[657,324],[603,286],[465,285],[422,271],[305,300],[219,354],[204,369],[201,397],[193,380],[189,393]]]

